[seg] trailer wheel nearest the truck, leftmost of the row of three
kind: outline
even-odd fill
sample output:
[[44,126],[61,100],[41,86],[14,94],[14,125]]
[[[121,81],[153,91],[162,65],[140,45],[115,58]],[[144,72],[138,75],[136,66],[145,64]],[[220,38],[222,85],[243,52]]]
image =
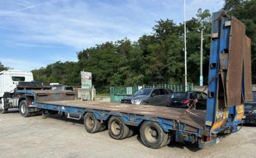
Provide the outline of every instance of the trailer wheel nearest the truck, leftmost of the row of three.
[[88,133],[96,133],[100,130],[100,121],[96,119],[93,113],[88,112],[84,117],[84,128]]

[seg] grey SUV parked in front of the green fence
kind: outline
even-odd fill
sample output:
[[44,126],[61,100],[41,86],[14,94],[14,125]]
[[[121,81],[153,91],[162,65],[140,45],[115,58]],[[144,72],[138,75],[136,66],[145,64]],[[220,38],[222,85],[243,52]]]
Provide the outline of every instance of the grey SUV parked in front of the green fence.
[[133,96],[124,97],[121,103],[165,106],[166,100],[171,94],[172,90],[167,88],[143,88]]

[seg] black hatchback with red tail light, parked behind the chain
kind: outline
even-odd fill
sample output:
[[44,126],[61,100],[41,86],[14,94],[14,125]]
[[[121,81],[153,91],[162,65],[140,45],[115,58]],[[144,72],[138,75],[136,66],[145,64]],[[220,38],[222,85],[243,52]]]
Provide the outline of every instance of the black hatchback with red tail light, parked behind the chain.
[[[193,100],[200,95],[199,91],[173,92],[167,100],[167,107],[188,108]],[[206,110],[207,94],[203,93],[196,103],[196,109]]]

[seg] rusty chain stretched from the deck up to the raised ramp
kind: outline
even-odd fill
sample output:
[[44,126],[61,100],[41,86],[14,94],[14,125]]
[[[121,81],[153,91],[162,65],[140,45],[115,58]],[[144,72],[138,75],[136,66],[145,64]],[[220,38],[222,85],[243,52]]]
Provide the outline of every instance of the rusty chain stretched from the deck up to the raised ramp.
[[190,114],[192,114],[192,115],[197,116],[196,114],[194,114],[193,112],[191,112],[190,109],[191,109],[192,107],[194,107],[194,108],[196,109],[196,103],[198,102],[198,99],[204,94],[204,91],[209,87],[209,85],[210,85],[216,78],[218,78],[218,76],[220,75],[221,72],[222,72],[222,69],[220,69],[219,72],[218,72],[216,75],[214,75],[214,76],[212,77],[212,79],[208,82],[208,86],[205,86],[205,87],[204,87],[203,91],[201,91],[200,94],[196,97],[196,99],[193,100],[193,104],[190,104],[190,105],[188,106],[188,109],[186,109],[185,112],[180,115],[180,117],[179,117],[179,119],[177,120],[177,122],[180,122],[180,120],[181,120],[187,113],[190,113]]

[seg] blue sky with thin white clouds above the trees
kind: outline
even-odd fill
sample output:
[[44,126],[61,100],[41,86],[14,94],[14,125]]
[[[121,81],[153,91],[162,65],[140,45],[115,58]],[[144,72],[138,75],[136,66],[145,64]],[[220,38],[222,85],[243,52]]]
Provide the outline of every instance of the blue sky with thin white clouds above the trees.
[[[150,34],[155,20],[183,22],[183,0],[2,0],[0,62],[23,71],[105,41]],[[187,20],[199,8],[218,11],[223,0],[187,0]]]

